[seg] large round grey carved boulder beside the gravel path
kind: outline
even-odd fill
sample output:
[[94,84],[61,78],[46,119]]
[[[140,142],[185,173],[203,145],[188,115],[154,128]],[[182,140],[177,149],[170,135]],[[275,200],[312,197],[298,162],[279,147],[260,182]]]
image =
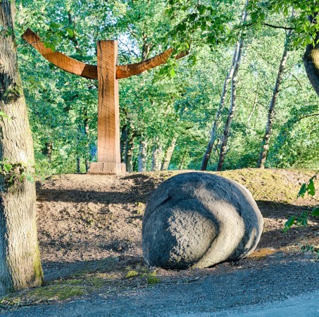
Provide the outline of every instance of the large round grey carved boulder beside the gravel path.
[[218,175],[184,173],[149,199],[143,256],[149,266],[206,268],[250,254],[262,230],[263,217],[246,187]]

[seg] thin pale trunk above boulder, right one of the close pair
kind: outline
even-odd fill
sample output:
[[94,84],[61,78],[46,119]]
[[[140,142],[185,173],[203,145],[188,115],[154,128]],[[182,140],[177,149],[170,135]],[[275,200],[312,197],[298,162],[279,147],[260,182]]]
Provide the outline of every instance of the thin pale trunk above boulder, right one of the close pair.
[[[246,0],[245,8],[244,8],[244,13],[242,17],[243,23],[246,22],[247,20],[247,8],[248,5],[248,0]],[[231,85],[231,96],[230,96],[230,111],[228,113],[227,121],[225,124],[224,132],[223,132],[223,139],[220,144],[220,155],[218,159],[218,165],[217,165],[217,170],[222,170],[223,164],[225,161],[225,156],[227,154],[227,142],[228,142],[228,137],[230,134],[230,127],[232,126],[232,119],[234,118],[234,113],[236,112],[236,92],[237,92],[237,75],[238,75],[238,70],[240,66],[240,62],[242,61],[242,48],[243,48],[244,40],[239,39],[237,42],[237,47],[236,47],[236,58],[235,58],[235,63],[234,63],[234,73],[232,74],[232,85]]]

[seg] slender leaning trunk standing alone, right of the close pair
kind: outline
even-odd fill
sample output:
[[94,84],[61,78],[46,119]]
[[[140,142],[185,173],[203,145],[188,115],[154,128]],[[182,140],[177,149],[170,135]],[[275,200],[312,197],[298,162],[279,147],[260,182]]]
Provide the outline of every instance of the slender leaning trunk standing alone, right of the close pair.
[[292,31],[287,33],[286,41],[284,42],[284,51],[282,53],[282,59],[280,61],[279,70],[277,73],[277,79],[275,82],[275,87],[273,89],[273,97],[270,101],[269,110],[268,110],[268,121],[265,129],[265,136],[263,137],[263,141],[261,142],[261,152],[259,154],[258,168],[265,168],[265,161],[267,159],[269,142],[271,132],[273,130],[273,121],[275,117],[275,106],[279,95],[280,85],[282,83],[282,77],[284,76],[284,66],[286,65],[288,58],[288,45],[289,45],[289,37],[292,35]]

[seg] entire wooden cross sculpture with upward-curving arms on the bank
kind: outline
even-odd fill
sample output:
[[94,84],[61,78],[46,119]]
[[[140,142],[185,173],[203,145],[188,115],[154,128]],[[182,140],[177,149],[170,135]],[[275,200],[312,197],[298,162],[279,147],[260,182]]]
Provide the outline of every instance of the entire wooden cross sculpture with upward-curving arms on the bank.
[[[162,65],[168,61],[173,49],[149,58],[140,63],[117,65],[118,42],[97,42],[97,66],[88,65],[74,58],[52,51],[44,46],[35,32],[27,29],[23,39],[58,68],[99,82],[99,108],[97,120],[97,162],[91,163],[89,173],[125,173],[125,164],[120,161],[120,118],[118,102],[118,80],[138,75],[145,70]],[[185,56],[179,54],[176,59]]]

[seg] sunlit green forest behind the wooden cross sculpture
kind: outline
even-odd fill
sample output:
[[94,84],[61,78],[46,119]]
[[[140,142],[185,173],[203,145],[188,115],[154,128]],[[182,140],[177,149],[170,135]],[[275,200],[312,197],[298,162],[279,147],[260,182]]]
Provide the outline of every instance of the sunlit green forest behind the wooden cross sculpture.
[[120,81],[121,155],[129,172],[199,170],[210,141],[208,170],[218,168],[221,148],[220,168],[254,168],[267,127],[265,167],[318,170],[319,104],[303,63],[310,23],[298,25],[306,13],[288,1],[267,14],[263,1],[254,2],[245,16],[244,0],[18,1],[18,60],[37,173],[85,173],[96,161],[97,82],[44,60],[21,38],[27,27],[51,49],[91,64],[100,39],[118,39],[119,63],[172,45],[189,51]]

